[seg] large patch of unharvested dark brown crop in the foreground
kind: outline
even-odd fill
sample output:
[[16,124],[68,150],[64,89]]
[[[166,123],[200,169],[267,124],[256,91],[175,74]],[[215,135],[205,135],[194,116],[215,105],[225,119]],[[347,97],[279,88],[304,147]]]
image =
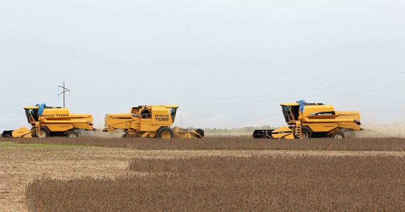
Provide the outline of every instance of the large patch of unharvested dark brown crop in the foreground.
[[405,210],[405,158],[134,158],[148,176],[38,179],[33,211]]

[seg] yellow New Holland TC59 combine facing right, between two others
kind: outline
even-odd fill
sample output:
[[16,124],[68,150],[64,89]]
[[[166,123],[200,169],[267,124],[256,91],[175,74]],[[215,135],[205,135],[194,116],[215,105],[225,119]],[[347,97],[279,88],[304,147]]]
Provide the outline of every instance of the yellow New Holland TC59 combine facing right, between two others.
[[123,129],[123,138],[203,138],[204,131],[200,129],[170,128],[178,108],[177,105],[145,105],[131,108],[130,113],[106,114],[103,131]]

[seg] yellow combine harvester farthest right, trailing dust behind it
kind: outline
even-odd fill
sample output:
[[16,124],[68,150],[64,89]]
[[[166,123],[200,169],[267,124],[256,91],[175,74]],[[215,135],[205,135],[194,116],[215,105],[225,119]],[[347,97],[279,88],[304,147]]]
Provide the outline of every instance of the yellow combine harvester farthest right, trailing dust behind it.
[[254,138],[344,138],[347,130],[360,130],[360,113],[335,111],[322,103],[281,104],[287,126],[276,130],[255,130]]

